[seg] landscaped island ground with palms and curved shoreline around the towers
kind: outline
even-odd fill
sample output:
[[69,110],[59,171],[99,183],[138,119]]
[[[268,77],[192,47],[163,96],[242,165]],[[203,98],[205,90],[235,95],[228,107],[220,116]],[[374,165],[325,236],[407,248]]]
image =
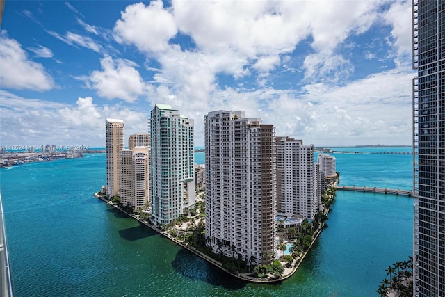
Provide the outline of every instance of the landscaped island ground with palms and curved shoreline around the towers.
[[[325,221],[334,202],[338,180],[339,172],[325,189],[321,207],[314,220],[302,220],[291,227],[289,224],[286,227],[284,222],[277,219],[277,236],[279,238],[277,259],[270,265],[257,266],[251,265],[252,263],[248,259],[227,257],[222,252],[219,254],[211,252],[211,248],[207,244],[209,239],[205,236],[203,187],[196,190],[197,201],[193,209],[189,209],[187,214],[179,216],[172,223],[161,226],[151,223],[148,206],[147,209],[134,211],[131,207],[122,205],[120,198],[108,198],[104,186],[101,191],[94,193],[94,196],[235,278],[247,282],[270,283],[290,278],[300,267],[302,260],[305,259],[323,228],[327,226]],[[274,255],[269,256],[273,257]]]

